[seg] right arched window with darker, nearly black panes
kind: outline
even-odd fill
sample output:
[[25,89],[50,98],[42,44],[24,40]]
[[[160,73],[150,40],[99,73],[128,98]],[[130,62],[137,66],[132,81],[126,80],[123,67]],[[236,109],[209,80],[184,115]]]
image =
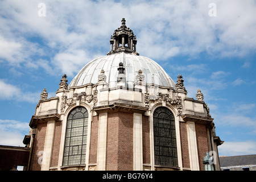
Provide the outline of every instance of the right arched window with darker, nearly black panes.
[[158,107],[153,114],[155,164],[177,167],[177,145],[174,114]]

